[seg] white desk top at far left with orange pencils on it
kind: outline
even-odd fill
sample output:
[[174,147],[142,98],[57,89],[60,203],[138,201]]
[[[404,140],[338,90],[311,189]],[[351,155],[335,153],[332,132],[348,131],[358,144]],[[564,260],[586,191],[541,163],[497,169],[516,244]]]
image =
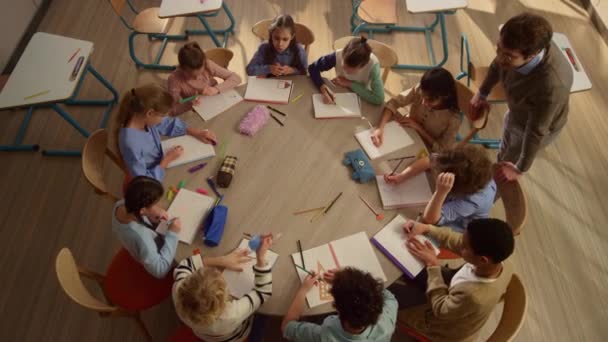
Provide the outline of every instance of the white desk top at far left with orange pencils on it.
[[[78,49],[78,54],[68,63]],[[74,93],[92,51],[92,42],[44,32],[35,33],[0,93],[0,108],[68,99]],[[85,60],[76,79],[70,81],[80,56],[84,56]],[[47,90],[49,92],[46,94],[26,99]]]

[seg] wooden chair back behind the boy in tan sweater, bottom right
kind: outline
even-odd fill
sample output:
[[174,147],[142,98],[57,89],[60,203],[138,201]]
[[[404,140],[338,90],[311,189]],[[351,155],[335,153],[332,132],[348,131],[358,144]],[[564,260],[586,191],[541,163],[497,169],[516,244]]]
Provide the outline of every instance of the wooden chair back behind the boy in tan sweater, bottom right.
[[513,341],[524,323],[528,310],[528,296],[526,288],[517,274],[513,274],[503,299],[502,316],[498,326],[488,338],[488,342]]

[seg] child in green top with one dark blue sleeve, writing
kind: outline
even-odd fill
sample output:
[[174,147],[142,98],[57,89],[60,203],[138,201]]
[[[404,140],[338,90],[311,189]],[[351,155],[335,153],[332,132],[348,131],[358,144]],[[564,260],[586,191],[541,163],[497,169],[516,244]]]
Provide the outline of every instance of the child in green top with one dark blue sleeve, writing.
[[332,83],[348,88],[369,103],[384,101],[384,84],[380,76],[380,63],[367,44],[367,38],[351,39],[344,49],[319,58],[308,67],[308,73],[323,95],[323,102],[335,103],[333,92],[323,83],[321,72],[336,68],[337,77]]

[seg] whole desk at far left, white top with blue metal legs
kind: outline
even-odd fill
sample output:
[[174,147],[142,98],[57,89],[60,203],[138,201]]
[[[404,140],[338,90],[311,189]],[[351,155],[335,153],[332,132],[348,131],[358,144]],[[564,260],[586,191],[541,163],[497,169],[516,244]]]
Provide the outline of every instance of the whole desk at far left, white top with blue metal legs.
[[[78,53],[68,62],[77,50]],[[59,104],[103,106],[105,110],[100,127],[106,126],[112,107],[118,100],[118,93],[89,63],[89,56],[92,52],[92,42],[44,32],[34,34],[0,93],[0,109],[29,107],[15,142],[12,145],[0,146],[0,151],[37,151],[39,149],[38,145],[22,144],[25,131],[36,108],[53,109],[86,138],[89,136],[89,132],[81,127]],[[76,77],[72,78],[70,77],[72,70],[80,56],[84,57],[82,67]],[[77,99],[85,76],[89,72],[112,93],[111,99]],[[79,156],[80,151],[43,150],[43,154]]]

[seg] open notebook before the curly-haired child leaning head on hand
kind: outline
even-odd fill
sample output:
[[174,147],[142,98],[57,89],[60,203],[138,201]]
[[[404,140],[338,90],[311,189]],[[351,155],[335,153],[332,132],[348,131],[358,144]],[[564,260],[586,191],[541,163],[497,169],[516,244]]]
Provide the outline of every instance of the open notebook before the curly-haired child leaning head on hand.
[[376,183],[385,210],[426,205],[433,195],[425,172],[397,185],[386,183],[384,176],[376,176]]

